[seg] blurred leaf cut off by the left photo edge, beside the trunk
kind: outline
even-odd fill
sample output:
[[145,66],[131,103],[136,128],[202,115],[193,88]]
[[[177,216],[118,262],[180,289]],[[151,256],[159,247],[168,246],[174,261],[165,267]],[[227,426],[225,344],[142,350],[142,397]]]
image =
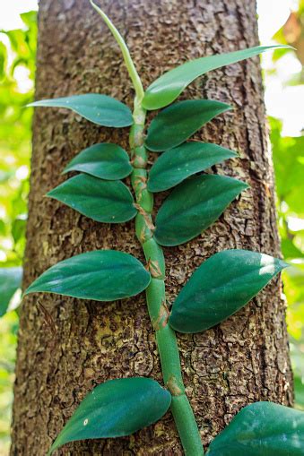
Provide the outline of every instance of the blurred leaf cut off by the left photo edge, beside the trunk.
[[0,268],[0,316],[4,315],[18,288],[22,286],[22,268]]

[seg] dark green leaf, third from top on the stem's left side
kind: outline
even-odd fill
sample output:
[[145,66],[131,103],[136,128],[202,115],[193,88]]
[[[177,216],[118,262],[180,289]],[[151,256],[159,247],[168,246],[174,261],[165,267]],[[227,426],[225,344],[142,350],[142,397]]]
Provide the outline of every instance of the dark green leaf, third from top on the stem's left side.
[[104,223],[121,223],[137,213],[134,199],[125,184],[80,174],[48,192],[47,196],[90,219]]

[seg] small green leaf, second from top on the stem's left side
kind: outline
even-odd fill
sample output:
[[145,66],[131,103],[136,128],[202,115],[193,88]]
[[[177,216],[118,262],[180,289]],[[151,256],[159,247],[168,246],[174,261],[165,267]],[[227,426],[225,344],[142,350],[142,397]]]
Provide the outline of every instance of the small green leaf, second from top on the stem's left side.
[[65,167],[64,173],[83,171],[100,179],[123,179],[132,172],[132,166],[126,151],[117,144],[94,144],[81,151]]

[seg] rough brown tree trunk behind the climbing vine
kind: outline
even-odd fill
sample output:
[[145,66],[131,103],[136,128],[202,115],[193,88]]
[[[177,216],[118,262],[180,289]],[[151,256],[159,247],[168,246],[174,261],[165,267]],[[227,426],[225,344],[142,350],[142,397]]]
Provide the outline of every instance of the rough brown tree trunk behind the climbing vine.
[[[145,86],[187,59],[258,42],[252,0],[104,0],[101,5],[126,37]],[[86,0],[40,0],[36,97],[85,92],[105,93],[132,105],[133,91],[119,49]],[[184,97],[218,99],[234,107],[197,138],[239,151],[238,159],[213,172],[239,177],[251,188],[203,235],[165,250],[169,303],[195,268],[215,252],[248,248],[280,254],[258,58],[208,73]],[[24,286],[56,262],[94,249],[119,249],[143,260],[134,221],[98,224],[44,197],[65,179],[60,172],[76,153],[94,142],[127,148],[127,134],[126,129],[91,125],[65,110],[36,110]],[[280,294],[276,279],[225,323],[201,334],[178,336],[187,395],[206,445],[249,402],[291,404]],[[104,304],[52,294],[24,299],[12,455],[44,455],[77,404],[98,383],[131,375],[161,381],[144,302],[143,295]],[[176,456],[182,450],[168,413],[130,437],[68,444],[57,454]]]

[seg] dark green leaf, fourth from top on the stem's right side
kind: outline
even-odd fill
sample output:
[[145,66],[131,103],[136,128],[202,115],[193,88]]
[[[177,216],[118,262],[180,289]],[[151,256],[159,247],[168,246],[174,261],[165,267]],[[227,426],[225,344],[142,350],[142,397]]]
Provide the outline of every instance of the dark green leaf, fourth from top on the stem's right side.
[[247,184],[231,177],[205,175],[187,179],[173,190],[157,214],[157,242],[179,245],[198,236],[246,188]]

